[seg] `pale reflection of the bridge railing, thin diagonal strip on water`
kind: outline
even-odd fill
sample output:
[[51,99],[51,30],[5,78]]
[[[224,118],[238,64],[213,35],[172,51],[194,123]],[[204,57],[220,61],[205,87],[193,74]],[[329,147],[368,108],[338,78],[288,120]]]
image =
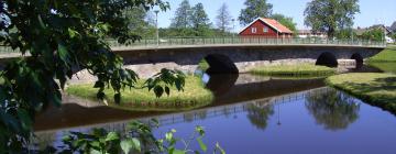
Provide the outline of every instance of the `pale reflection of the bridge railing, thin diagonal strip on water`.
[[[250,101],[240,102],[237,105],[199,109],[199,110],[193,110],[193,111],[187,111],[187,112],[176,113],[176,114],[170,114],[170,116],[160,116],[160,117],[154,116],[154,117],[138,119],[138,120],[141,120],[143,122],[150,122],[151,119],[157,119],[160,121],[161,125],[193,122],[196,120],[211,119],[211,118],[217,118],[217,117],[222,117],[222,116],[230,116],[230,114],[246,112],[246,109],[250,106],[255,106],[257,108],[264,108],[267,106],[276,106],[276,105],[282,105],[282,103],[295,102],[298,100],[305,100],[305,98],[307,96],[326,94],[326,92],[328,92],[328,89],[329,88],[317,88],[317,89],[294,92],[294,94],[288,94],[288,95],[283,95],[283,96],[275,96],[275,97],[270,97],[270,98],[264,98],[264,99],[250,100]],[[85,127],[85,128],[80,128],[80,129],[86,130],[86,129],[90,129],[90,128],[105,128],[105,129],[112,130],[112,131],[116,131],[116,130],[117,131],[125,131],[124,129],[127,128],[127,124],[129,122],[131,122],[131,120],[123,120],[123,121],[110,122],[110,123],[103,123],[103,124],[94,124],[94,125],[89,125],[88,128]],[[52,132],[52,131],[37,132],[36,134],[48,133],[48,132]]]

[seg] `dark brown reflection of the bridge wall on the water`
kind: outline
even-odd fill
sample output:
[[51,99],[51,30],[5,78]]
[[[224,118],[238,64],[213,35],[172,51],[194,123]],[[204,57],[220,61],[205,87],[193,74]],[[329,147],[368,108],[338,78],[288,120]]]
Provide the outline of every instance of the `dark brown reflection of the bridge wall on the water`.
[[[237,81],[245,78],[245,81]],[[216,95],[216,100],[204,108],[220,107],[244,102],[261,98],[268,98],[323,87],[322,79],[270,79],[256,82],[243,74],[234,76],[212,76],[208,88]],[[235,84],[237,82],[237,84]],[[239,82],[239,84],[238,84]],[[144,117],[161,116],[169,112],[155,111],[124,111],[109,107],[90,107],[82,103],[73,103],[79,100],[65,99],[72,103],[64,103],[62,108],[50,108],[36,116],[35,130],[57,130],[79,128],[127,121]],[[88,103],[87,103],[88,105]]]

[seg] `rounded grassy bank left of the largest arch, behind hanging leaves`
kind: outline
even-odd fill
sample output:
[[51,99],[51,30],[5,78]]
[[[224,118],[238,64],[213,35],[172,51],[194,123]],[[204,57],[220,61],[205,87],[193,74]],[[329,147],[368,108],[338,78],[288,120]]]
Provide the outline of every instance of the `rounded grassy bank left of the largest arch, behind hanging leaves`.
[[[143,84],[143,80],[139,81]],[[98,89],[92,88],[94,85],[70,85],[66,92],[69,95],[77,96],[84,99],[96,99]],[[107,89],[106,96],[109,97],[108,102],[110,107],[133,110],[133,111],[177,111],[177,110],[190,110],[194,108],[204,107],[209,105],[213,95],[210,90],[205,88],[204,82],[199,77],[187,76],[184,91],[177,91],[176,88],[170,89],[169,96],[162,96],[156,98],[153,91],[148,89],[129,89],[125,88],[122,91],[121,103],[114,103],[112,96],[114,91]]]

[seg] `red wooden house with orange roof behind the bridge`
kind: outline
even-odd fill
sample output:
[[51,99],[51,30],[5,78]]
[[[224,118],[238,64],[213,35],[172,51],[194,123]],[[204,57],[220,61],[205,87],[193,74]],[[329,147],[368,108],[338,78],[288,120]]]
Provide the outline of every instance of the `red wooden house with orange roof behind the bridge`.
[[273,19],[258,18],[239,33],[240,36],[292,37],[293,32]]

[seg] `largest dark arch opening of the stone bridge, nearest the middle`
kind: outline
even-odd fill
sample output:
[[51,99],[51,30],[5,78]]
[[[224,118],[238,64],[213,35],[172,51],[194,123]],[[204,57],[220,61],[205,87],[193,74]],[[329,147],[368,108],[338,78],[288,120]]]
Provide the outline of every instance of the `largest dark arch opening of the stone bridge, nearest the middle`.
[[238,74],[238,67],[226,55],[210,54],[205,57],[205,61],[209,64],[207,69],[208,74]]

